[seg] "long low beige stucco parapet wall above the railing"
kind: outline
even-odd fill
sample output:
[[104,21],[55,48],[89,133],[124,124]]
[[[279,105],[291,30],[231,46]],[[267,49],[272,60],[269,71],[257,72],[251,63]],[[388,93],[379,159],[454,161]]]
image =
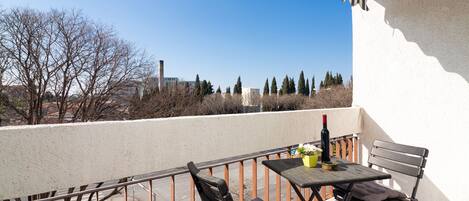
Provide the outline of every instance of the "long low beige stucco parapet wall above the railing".
[[360,133],[342,108],[0,128],[0,200]]

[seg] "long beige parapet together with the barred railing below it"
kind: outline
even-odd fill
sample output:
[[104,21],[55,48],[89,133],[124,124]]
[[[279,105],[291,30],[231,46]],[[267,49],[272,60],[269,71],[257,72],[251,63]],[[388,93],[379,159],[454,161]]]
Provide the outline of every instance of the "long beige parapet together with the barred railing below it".
[[[359,162],[358,107],[2,128],[0,196],[197,200],[185,168],[192,160],[229,181],[237,200],[294,200],[289,183],[261,161],[290,157],[298,143],[317,143],[321,114],[329,116],[331,153]],[[322,188],[322,196],[331,191]]]

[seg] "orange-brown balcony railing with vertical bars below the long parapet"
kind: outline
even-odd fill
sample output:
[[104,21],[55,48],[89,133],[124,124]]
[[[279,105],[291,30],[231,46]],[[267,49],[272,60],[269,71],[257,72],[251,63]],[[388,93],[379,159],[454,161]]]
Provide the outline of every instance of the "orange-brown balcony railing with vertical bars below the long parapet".
[[[346,159],[349,161],[358,162],[358,135],[351,134],[341,137],[336,137],[331,139],[330,153],[332,156],[337,158]],[[309,142],[318,145],[319,141]],[[269,159],[280,159],[280,158],[289,158],[290,150],[294,146],[281,147],[276,149],[270,149],[250,154],[244,154],[240,156],[234,156],[230,158],[223,158],[214,161],[208,161],[197,164],[201,169],[208,170],[208,174],[213,174],[213,169],[222,167],[223,168],[223,177],[228,184],[233,185],[233,181],[237,186],[229,186],[231,191],[236,189],[237,192],[232,192],[235,197],[240,201],[244,201],[246,197],[262,197],[265,201],[269,200],[294,200],[296,198],[295,194],[292,194],[291,184],[289,182],[283,182],[285,185],[282,186],[281,177],[275,175],[275,180],[271,181],[271,174],[268,168],[263,167],[263,184],[258,184],[258,168],[262,167],[259,163],[260,160],[269,160]],[[246,164],[250,163],[251,175],[245,175]],[[235,166],[238,169],[238,177],[230,177],[230,168]],[[180,186],[176,185],[176,176],[186,176],[188,177],[188,170],[186,167],[178,167],[173,169],[168,169],[164,171],[154,172],[146,175],[139,175],[134,177],[127,177],[120,179],[118,183],[105,185],[105,182],[100,182],[92,185],[84,185],[75,188],[65,189],[62,193],[57,193],[57,191],[41,193],[37,195],[27,196],[27,200],[39,200],[39,201],[55,201],[55,200],[64,200],[64,201],[94,201],[94,200],[103,200],[104,198],[109,198],[120,194],[122,199],[128,201],[129,199],[129,186],[139,185],[144,189],[148,194],[149,201],[155,201],[156,196],[153,192],[154,185],[159,181],[164,179],[169,179],[169,200],[175,201],[176,199],[176,190]],[[246,177],[250,177],[250,189],[245,189]],[[231,182],[230,182],[231,181]],[[188,200],[194,201],[198,197],[196,195],[196,190],[192,179],[188,179],[189,182],[189,195],[187,195]],[[270,191],[269,186],[275,184],[274,192]],[[185,185],[181,185],[185,186]],[[262,195],[259,194],[260,187],[263,188]],[[75,192],[74,192],[75,190]],[[110,191],[110,192],[109,192]],[[249,194],[246,192],[249,191]],[[309,189],[303,190],[304,196],[306,199],[309,199],[311,192]],[[321,188],[321,196],[324,199],[332,197],[332,187],[326,186]],[[298,198],[296,198],[298,199]],[[19,201],[21,198],[12,199]],[[10,200],[5,200],[10,201]]]

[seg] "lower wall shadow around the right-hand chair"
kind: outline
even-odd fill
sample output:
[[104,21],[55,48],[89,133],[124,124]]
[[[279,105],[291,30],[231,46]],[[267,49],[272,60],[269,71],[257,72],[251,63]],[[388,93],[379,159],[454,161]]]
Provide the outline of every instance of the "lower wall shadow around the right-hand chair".
[[[361,110],[361,117],[363,122],[363,130],[360,135],[360,159],[362,164],[367,164],[368,160],[368,151],[371,150],[371,145],[375,139],[394,142],[394,140],[389,137],[388,134],[373,120],[373,118],[364,110]],[[405,142],[395,142],[405,144]],[[432,150],[430,150],[430,155]],[[431,163],[428,161],[427,163]],[[394,189],[401,190],[408,195],[411,195],[412,188],[415,185],[415,179],[397,172],[388,171],[392,175],[390,181],[390,187]],[[422,195],[422,193],[424,195]],[[425,196],[424,199],[423,196]],[[428,199],[431,197],[431,199]],[[438,200],[446,201],[449,200],[448,197],[431,181],[430,178],[424,175],[423,179],[420,180],[420,184],[417,190],[417,199],[419,200]]]

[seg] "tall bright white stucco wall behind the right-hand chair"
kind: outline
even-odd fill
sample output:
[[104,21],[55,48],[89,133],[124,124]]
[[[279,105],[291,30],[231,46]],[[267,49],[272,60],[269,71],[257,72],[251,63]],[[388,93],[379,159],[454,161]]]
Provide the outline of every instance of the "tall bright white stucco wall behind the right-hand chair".
[[[352,22],[363,156],[376,138],[426,147],[417,198],[467,200],[469,1],[368,2],[368,12],[353,8]],[[395,187],[409,190],[410,180],[395,180]]]

